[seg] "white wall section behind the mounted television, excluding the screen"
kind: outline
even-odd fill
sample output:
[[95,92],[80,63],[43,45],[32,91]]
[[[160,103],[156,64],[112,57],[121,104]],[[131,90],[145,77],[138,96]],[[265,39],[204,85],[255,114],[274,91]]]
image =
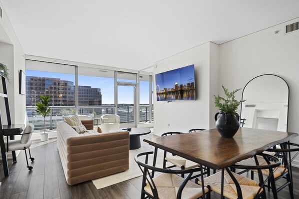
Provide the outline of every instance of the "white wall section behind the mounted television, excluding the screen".
[[[161,135],[169,131],[187,132],[192,128],[210,128],[210,120],[213,120],[214,116],[210,115],[208,105],[211,96],[217,93],[218,85],[217,82],[213,83],[212,91],[215,93],[210,93],[210,81],[217,77],[217,73],[212,75],[210,73],[217,70],[217,48],[218,45],[207,42],[154,63],[154,74],[194,64],[196,89],[195,101],[167,103],[167,101],[156,101],[154,95],[154,134]],[[216,55],[211,56],[211,53]]]

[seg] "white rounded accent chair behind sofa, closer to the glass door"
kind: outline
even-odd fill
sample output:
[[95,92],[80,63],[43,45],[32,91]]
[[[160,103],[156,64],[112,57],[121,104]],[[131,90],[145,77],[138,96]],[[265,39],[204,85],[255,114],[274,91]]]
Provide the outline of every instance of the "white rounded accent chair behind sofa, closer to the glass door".
[[114,114],[105,114],[100,116],[100,128],[103,133],[109,132],[111,129],[118,129],[120,117]]

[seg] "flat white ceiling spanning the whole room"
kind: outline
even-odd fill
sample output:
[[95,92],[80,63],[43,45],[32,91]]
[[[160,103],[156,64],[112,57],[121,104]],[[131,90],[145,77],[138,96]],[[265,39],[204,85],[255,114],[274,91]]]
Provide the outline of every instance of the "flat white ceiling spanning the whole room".
[[25,54],[135,70],[299,17],[299,0],[0,2]]

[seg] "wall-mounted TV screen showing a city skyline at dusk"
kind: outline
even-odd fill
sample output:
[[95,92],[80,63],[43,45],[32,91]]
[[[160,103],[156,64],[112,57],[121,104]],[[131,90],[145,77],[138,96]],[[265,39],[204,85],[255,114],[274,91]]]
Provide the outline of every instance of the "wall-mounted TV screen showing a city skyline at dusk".
[[195,100],[194,64],[155,75],[157,101]]

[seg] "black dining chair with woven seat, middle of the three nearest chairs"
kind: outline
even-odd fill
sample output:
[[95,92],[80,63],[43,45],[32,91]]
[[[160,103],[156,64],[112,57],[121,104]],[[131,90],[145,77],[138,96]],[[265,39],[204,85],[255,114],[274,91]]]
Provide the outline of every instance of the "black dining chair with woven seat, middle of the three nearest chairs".
[[[268,154],[260,154],[267,162],[265,165],[258,165],[257,156],[254,156],[254,164],[252,165],[233,165],[234,169],[249,169],[256,170],[258,172],[259,182],[251,180],[245,176],[241,176],[237,173],[233,173],[229,168],[222,169],[220,172],[213,174],[203,179],[204,186],[209,185],[210,190],[228,199],[258,199],[259,197],[265,198],[265,183],[273,175],[273,168],[278,167],[281,164],[281,160],[275,156]],[[274,160],[270,163],[269,160]],[[262,170],[269,170],[270,176],[264,181],[262,176]],[[202,180],[195,179],[195,183],[202,185]],[[221,190],[221,182],[223,182],[223,190]]]

